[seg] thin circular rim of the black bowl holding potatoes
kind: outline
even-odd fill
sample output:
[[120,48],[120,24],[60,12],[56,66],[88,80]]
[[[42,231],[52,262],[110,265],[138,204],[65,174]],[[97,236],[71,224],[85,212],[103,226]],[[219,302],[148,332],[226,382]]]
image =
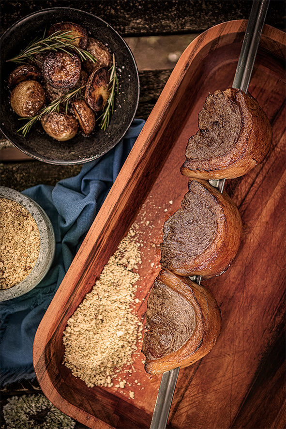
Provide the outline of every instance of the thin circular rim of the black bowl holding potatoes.
[[[13,139],[11,139],[11,137],[9,137],[9,134],[10,134],[9,130],[7,130],[7,131],[5,130],[4,123],[2,123],[2,122],[0,122],[0,130],[1,130],[2,134],[5,136],[5,138],[7,138],[17,149],[19,149],[21,152],[29,155],[31,158],[36,159],[37,161],[45,162],[47,164],[54,164],[54,165],[85,164],[85,163],[90,162],[90,161],[95,161],[96,159],[103,156],[105,153],[108,153],[110,150],[112,150],[120,142],[120,140],[122,138],[124,138],[124,135],[126,134],[128,129],[130,128],[130,126],[131,126],[131,124],[135,118],[136,111],[137,111],[138,104],[139,104],[139,97],[140,97],[139,71],[138,71],[136,61],[135,61],[135,57],[134,57],[130,47],[127,45],[126,41],[123,39],[123,37],[119,34],[119,32],[117,30],[115,30],[110,24],[108,24],[104,19],[100,18],[99,16],[91,14],[90,12],[87,12],[87,11],[84,11],[81,9],[74,8],[74,7],[66,7],[66,6],[57,7],[57,6],[55,6],[55,7],[50,7],[50,8],[45,8],[45,9],[41,9],[38,11],[34,11],[34,12],[30,13],[29,15],[25,15],[24,17],[22,17],[21,19],[16,21],[14,24],[12,24],[6,31],[4,31],[4,33],[0,36],[0,43],[4,40],[5,37],[7,37],[7,34],[9,34],[9,32],[12,31],[12,29],[17,28],[17,26],[21,25],[26,20],[31,19],[31,18],[36,17],[36,16],[45,15],[46,13],[52,14],[52,13],[59,13],[59,12],[62,12],[62,13],[75,12],[76,14],[79,14],[79,15],[89,16],[90,19],[95,18],[97,21],[100,21],[104,26],[106,26],[106,28],[109,28],[113,33],[115,33],[116,36],[120,39],[121,43],[124,45],[124,49],[126,49],[126,52],[130,56],[130,60],[131,60],[132,65],[133,65],[133,73],[135,76],[135,86],[136,86],[136,95],[137,95],[136,98],[134,98],[134,100],[133,100],[134,109],[133,109],[132,115],[130,116],[130,120],[128,121],[128,123],[126,123],[124,131],[122,131],[120,133],[120,137],[114,139],[113,144],[108,145],[108,147],[105,148],[100,153],[97,153],[95,155],[91,155],[88,157],[83,156],[82,158],[76,158],[76,159],[54,159],[54,158],[50,158],[48,155],[31,153],[29,151],[29,149],[22,148],[20,143],[14,142]],[[61,20],[61,18],[59,18],[59,22],[60,22],[60,20]],[[62,18],[62,20],[64,20],[64,18]],[[108,131],[108,128],[106,128],[106,131]],[[84,136],[82,136],[82,138],[84,138]],[[106,138],[108,139],[109,136],[106,135]],[[94,143],[95,142],[96,142],[96,136],[94,137]]]

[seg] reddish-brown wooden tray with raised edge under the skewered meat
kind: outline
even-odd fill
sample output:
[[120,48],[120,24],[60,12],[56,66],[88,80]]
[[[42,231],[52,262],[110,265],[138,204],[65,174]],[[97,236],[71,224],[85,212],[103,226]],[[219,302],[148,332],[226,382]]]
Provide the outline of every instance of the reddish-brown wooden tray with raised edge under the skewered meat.
[[[134,399],[124,389],[87,387],[62,365],[67,320],[135,221],[143,244],[136,314],[144,322],[163,224],[187,192],[180,173],[187,140],[208,93],[232,85],[246,25],[217,25],[183,52],[37,330],[43,392],[89,428],[148,428],[160,377],[145,373],[141,353],[130,377],[141,383]],[[284,427],[285,45],[282,31],[264,27],[249,91],[271,121],[273,143],[262,165],[226,184],[242,216],[242,244],[225,274],[203,282],[221,308],[222,333],[211,353],[180,370],[172,428]]]

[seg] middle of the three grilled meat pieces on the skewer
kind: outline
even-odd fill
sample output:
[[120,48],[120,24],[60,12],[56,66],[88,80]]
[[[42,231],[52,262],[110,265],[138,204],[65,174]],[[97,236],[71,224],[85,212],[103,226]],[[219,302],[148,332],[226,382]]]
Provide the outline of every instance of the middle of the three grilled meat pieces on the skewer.
[[219,276],[241,244],[242,221],[234,202],[205,180],[189,180],[181,208],[163,229],[161,265],[180,276]]

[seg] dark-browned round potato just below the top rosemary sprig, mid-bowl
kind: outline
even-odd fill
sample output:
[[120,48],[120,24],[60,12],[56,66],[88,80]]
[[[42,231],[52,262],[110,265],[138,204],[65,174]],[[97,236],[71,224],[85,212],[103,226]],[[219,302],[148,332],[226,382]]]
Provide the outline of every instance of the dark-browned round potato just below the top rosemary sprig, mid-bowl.
[[50,52],[43,63],[43,76],[54,88],[74,88],[81,73],[81,61],[75,53]]

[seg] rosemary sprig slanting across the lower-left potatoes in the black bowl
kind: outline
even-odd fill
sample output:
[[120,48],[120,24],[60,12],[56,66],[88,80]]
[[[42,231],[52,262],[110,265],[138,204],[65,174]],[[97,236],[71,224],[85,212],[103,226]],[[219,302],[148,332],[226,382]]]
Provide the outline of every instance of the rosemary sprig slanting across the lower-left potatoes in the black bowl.
[[[60,97],[56,98],[48,106],[46,106],[42,110],[40,110],[40,112],[37,115],[30,118],[30,121],[28,121],[20,129],[18,129],[17,132],[22,132],[22,134],[25,137],[26,134],[30,131],[32,125],[35,122],[40,121],[44,115],[47,115],[47,114],[52,113],[52,112],[59,112],[60,111],[60,104],[65,103],[65,114],[67,114],[69,101],[72,98],[78,97],[79,93],[81,93],[83,88],[85,88],[85,85],[77,88],[76,90],[69,91],[66,94],[61,95]],[[27,118],[21,118],[21,119],[27,119]]]

